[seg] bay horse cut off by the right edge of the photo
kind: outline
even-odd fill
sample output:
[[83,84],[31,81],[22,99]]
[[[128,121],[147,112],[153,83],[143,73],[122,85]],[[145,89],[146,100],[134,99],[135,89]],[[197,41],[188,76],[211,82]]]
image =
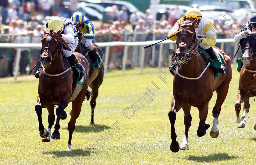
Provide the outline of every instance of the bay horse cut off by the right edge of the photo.
[[[250,109],[249,98],[256,96],[256,35],[253,32],[248,32],[239,42],[242,49],[241,61],[244,65],[240,71],[235,110],[236,123],[239,123],[238,128],[245,128],[246,116]],[[242,103],[244,103],[244,113],[243,116],[239,116]],[[256,124],[254,130],[256,130]]]

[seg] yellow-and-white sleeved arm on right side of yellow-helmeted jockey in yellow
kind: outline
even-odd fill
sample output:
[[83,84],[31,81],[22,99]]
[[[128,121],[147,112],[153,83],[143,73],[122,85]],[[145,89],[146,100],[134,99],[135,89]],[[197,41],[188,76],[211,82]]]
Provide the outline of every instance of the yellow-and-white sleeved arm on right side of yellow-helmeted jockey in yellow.
[[201,38],[204,45],[214,46],[216,44],[217,30],[215,29],[212,22],[208,22],[204,26],[205,37]]

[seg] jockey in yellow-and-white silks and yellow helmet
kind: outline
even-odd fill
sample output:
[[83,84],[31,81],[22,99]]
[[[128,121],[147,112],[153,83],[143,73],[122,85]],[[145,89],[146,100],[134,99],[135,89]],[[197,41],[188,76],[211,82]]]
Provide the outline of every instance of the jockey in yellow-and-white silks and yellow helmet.
[[[214,60],[218,60],[217,56],[212,49],[212,46],[216,44],[216,32],[217,30],[215,29],[213,23],[206,17],[202,16],[202,13],[199,9],[197,8],[191,8],[189,9],[186,14],[186,17],[190,18],[197,18],[198,19],[198,24],[195,29],[196,32],[196,41],[200,45],[200,47],[207,52],[210,57]],[[183,22],[184,17],[180,18],[180,21]],[[178,30],[179,25],[176,22],[175,25],[173,25],[172,29],[168,33],[168,37],[171,35],[174,35],[175,32]],[[170,38],[172,41],[176,40],[176,35]]]

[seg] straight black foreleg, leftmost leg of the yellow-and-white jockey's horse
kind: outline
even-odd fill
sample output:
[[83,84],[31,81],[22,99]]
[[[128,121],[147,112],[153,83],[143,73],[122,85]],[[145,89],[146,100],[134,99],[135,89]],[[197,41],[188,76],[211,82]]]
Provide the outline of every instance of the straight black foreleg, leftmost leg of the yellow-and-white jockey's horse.
[[172,97],[172,102],[171,102],[172,107],[171,107],[171,109],[168,113],[169,120],[170,120],[170,123],[171,123],[171,139],[172,139],[172,142],[171,142],[171,145],[170,145],[170,150],[172,152],[178,152],[180,150],[179,143],[176,140],[177,135],[175,133],[174,124],[175,124],[175,120],[176,120],[176,113],[180,110],[180,108],[183,105],[184,105],[184,102],[179,101],[178,98],[176,98],[176,96],[174,94],[174,96]]

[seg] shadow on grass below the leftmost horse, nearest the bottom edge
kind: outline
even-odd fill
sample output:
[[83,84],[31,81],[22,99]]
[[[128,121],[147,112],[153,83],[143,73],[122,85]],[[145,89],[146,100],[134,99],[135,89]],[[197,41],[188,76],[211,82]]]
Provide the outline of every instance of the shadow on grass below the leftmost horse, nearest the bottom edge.
[[84,156],[88,157],[91,156],[93,151],[90,151],[89,149],[76,149],[76,150],[71,150],[71,151],[44,151],[42,154],[54,154],[56,157],[79,157],[79,156]]

